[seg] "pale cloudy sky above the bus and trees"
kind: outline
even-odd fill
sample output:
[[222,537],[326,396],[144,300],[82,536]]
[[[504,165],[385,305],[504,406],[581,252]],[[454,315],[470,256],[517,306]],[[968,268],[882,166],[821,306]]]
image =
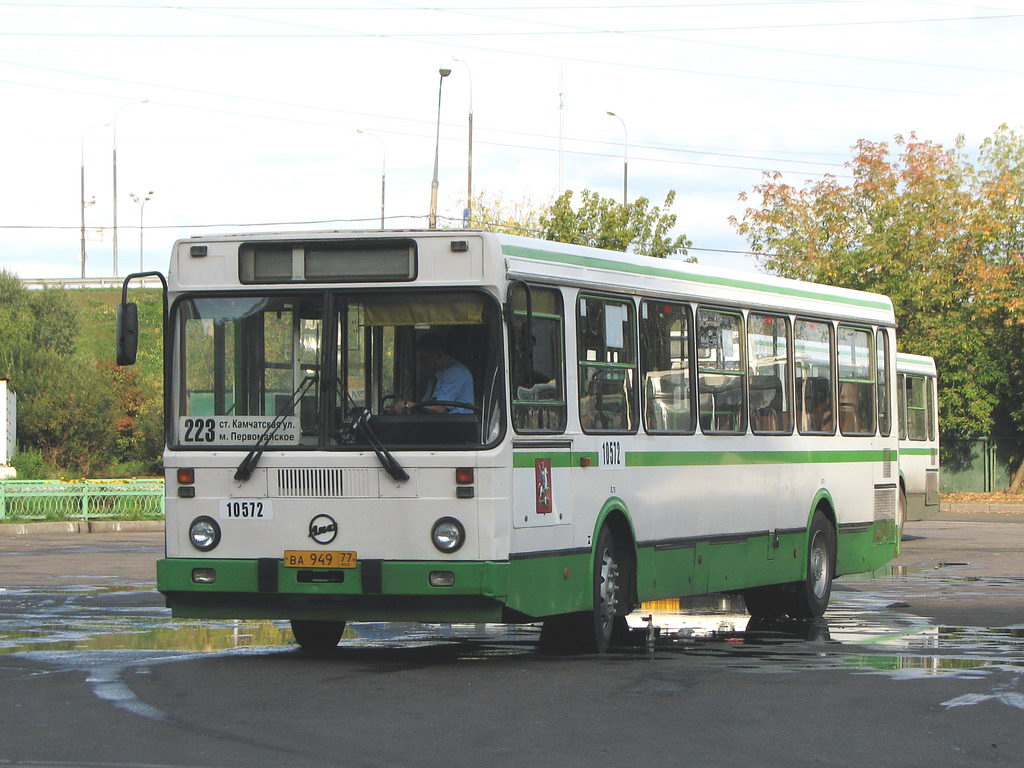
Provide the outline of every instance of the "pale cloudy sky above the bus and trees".
[[386,226],[426,227],[435,138],[460,226],[472,112],[474,197],[618,200],[628,160],[691,255],[757,270],[740,193],[1024,126],[1022,40],[1014,0],[0,0],[0,268],[82,273],[84,169],[85,274],[115,273],[115,147],[120,275],[197,234],[379,228],[382,175]]

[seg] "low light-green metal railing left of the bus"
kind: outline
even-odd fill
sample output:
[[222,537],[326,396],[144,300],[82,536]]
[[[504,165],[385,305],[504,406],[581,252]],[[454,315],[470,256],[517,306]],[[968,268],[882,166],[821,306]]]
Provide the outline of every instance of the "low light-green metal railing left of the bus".
[[162,520],[162,477],[0,480],[0,521]]

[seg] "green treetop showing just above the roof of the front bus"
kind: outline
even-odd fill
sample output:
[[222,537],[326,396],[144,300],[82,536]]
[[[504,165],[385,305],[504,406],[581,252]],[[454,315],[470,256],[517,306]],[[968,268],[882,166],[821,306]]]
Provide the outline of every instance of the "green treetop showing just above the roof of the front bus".
[[635,253],[656,258],[685,256],[693,245],[685,234],[671,234],[676,214],[667,211],[675,203],[675,190],[666,196],[664,207],[651,207],[646,198],[623,205],[589,189],[580,198],[579,208],[573,209],[572,191],[562,193],[540,217],[541,237],[611,251],[632,247]]

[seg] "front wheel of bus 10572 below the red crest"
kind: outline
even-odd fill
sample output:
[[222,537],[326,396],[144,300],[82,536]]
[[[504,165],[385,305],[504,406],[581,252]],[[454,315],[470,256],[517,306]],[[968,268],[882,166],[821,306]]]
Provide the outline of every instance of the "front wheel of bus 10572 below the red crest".
[[622,556],[605,526],[594,548],[594,601],[588,611],[549,616],[541,628],[542,653],[604,653],[628,634],[625,613],[629,598]]

